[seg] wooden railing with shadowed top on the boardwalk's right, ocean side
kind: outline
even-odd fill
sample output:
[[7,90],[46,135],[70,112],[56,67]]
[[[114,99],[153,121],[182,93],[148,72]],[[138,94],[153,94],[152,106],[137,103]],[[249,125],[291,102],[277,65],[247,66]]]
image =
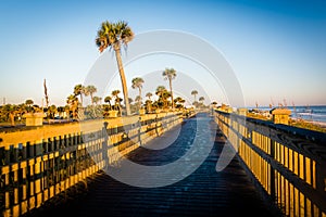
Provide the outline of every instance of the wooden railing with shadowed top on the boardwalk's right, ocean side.
[[223,111],[215,122],[285,216],[326,216],[326,133]]

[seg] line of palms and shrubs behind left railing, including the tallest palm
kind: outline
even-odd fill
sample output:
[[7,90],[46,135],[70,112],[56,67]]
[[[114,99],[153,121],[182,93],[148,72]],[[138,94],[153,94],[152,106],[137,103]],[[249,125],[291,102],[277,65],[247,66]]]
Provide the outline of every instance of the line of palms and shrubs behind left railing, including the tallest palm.
[[[104,50],[113,50],[116,63],[120,72],[121,82],[122,82],[122,93],[121,98],[120,90],[113,90],[110,95],[104,97],[104,99],[97,97],[97,88],[93,85],[83,86],[78,84],[74,87],[73,93],[66,98],[65,106],[55,106],[54,104],[48,105],[49,97],[47,94],[46,80],[45,80],[45,95],[46,95],[46,106],[39,106],[34,104],[32,99],[26,100],[24,103],[18,105],[4,104],[0,106],[0,122],[10,122],[14,125],[15,120],[22,122],[23,115],[25,113],[45,112],[47,118],[54,118],[57,115],[66,114],[67,118],[78,118],[78,114],[90,115],[100,114],[102,112],[103,116],[106,116],[110,111],[116,110],[120,115],[124,112],[126,115],[131,115],[141,110],[147,113],[152,113],[156,110],[175,110],[185,107],[185,100],[180,97],[174,98],[173,94],[173,79],[177,76],[177,72],[174,68],[165,68],[162,72],[164,79],[168,81],[168,90],[164,86],[159,86],[155,90],[158,100],[152,100],[152,93],[146,93],[146,101],[142,102],[142,85],[145,80],[141,77],[136,77],[131,80],[131,87],[138,89],[139,94],[135,99],[128,97],[128,89],[126,84],[126,77],[124,73],[124,67],[121,58],[121,48],[127,48],[128,42],[134,39],[135,35],[128,24],[124,21],[118,21],[112,23],[109,21],[102,22],[100,28],[97,31],[96,46],[99,52]],[[203,106],[204,98],[200,97],[199,102],[197,101],[197,90],[192,90],[191,94],[195,97],[193,105]],[[90,105],[84,106],[84,99],[90,97]],[[102,103],[104,101],[104,104]],[[122,104],[124,102],[124,105]],[[133,104],[133,102],[135,102]]]

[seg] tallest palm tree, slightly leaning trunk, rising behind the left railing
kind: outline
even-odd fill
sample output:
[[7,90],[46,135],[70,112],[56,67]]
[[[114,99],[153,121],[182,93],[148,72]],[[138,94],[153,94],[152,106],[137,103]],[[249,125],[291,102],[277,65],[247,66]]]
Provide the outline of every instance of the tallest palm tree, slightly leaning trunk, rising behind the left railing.
[[120,21],[117,23],[110,23],[105,21],[101,24],[97,33],[96,44],[99,51],[103,52],[106,48],[113,48],[117,62],[118,73],[121,77],[124,100],[126,105],[126,113],[130,115],[130,104],[128,99],[128,89],[121,59],[121,46],[127,46],[134,38],[134,33],[126,22]]

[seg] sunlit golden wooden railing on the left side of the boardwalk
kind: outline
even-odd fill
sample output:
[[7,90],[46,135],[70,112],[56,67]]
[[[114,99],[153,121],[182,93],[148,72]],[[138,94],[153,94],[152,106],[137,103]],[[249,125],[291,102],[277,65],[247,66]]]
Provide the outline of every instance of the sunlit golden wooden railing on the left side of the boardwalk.
[[181,120],[160,113],[0,132],[0,215],[40,207]]

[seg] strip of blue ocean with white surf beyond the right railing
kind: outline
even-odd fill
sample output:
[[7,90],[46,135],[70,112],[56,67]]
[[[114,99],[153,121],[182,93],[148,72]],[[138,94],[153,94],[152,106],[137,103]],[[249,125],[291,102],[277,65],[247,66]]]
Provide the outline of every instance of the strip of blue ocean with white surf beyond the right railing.
[[[255,107],[248,107],[249,110]],[[269,111],[268,106],[259,106],[259,110]],[[302,118],[316,124],[326,125],[326,105],[287,106],[291,111],[291,118]]]

